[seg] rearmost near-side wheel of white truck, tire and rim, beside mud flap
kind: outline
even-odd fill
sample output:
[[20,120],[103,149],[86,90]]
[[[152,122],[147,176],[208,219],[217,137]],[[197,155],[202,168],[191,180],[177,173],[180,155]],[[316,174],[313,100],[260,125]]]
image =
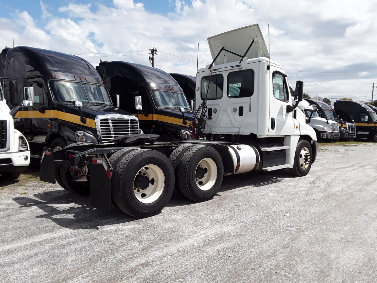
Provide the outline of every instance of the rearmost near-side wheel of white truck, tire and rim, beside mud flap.
[[137,149],[123,156],[112,177],[118,208],[137,218],[158,214],[173,194],[174,171],[161,152]]

